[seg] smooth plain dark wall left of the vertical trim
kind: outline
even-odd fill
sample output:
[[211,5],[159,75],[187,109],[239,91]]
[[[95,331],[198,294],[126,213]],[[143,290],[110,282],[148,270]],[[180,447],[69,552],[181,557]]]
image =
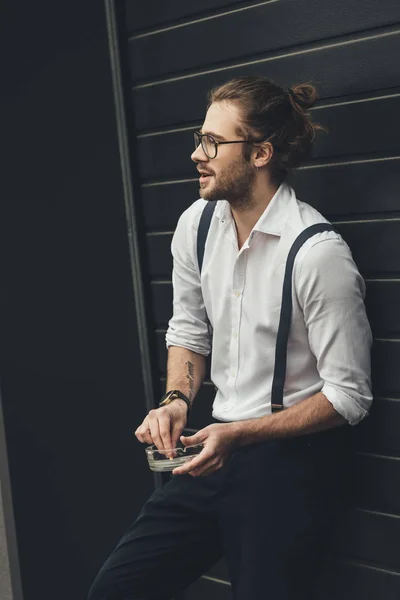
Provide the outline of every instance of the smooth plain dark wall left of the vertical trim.
[[[142,357],[106,14],[98,0],[1,13],[0,379],[22,588],[85,600],[153,487],[133,435]],[[0,422],[1,451],[2,436]]]

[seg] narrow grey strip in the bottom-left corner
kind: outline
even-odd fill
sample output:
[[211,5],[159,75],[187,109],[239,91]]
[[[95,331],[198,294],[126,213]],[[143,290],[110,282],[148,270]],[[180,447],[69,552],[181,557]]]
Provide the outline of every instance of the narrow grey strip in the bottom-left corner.
[[8,453],[4,430],[3,406],[0,390],[0,494],[2,496],[6,545],[11,577],[11,593],[13,600],[23,600],[21,571],[19,565],[17,535],[15,531],[14,509],[11,493],[10,474],[8,471]]

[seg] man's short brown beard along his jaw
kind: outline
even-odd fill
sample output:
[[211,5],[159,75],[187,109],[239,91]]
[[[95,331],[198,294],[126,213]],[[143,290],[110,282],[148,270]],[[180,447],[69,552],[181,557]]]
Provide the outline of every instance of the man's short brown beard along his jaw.
[[213,175],[199,190],[204,200],[227,200],[232,208],[244,210],[252,206],[252,189],[256,170],[244,157],[231,162],[218,178]]

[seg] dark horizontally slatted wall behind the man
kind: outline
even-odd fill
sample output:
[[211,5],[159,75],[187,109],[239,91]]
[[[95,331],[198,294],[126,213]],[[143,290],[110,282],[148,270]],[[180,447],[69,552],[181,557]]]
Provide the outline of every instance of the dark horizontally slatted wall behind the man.
[[[320,136],[292,177],[300,199],[331,219],[350,244],[368,289],[374,332],[370,418],[357,428],[354,508],[338,531],[320,600],[400,596],[400,4],[393,0],[127,0],[122,53],[132,88],[129,135],[137,148],[147,238],[151,336],[164,385],[164,334],[172,310],[170,243],[198,197],[192,131],[206,92],[237,75],[283,86],[312,81]],[[190,426],[210,416],[205,383]],[[268,590],[266,576],[266,591]],[[185,598],[229,598],[223,563]]]

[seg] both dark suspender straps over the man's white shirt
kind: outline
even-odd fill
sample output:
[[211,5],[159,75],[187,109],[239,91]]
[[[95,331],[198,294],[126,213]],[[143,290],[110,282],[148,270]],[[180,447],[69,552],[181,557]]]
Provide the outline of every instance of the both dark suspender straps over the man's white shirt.
[[[199,228],[197,230],[197,260],[200,273],[203,266],[204,249],[208,230],[210,228],[215,205],[216,202],[208,202],[206,204],[200,217]],[[307,227],[307,229],[304,229],[304,231],[302,231],[293,242],[286,260],[285,276],[282,289],[281,314],[279,318],[278,334],[276,336],[274,376],[271,390],[272,412],[277,412],[283,409],[283,388],[286,377],[287,344],[292,320],[292,274],[294,260],[304,242],[317,233],[322,233],[323,231],[335,231],[335,229],[333,225],[330,225],[329,223],[316,223],[315,225],[311,225],[310,227]]]

